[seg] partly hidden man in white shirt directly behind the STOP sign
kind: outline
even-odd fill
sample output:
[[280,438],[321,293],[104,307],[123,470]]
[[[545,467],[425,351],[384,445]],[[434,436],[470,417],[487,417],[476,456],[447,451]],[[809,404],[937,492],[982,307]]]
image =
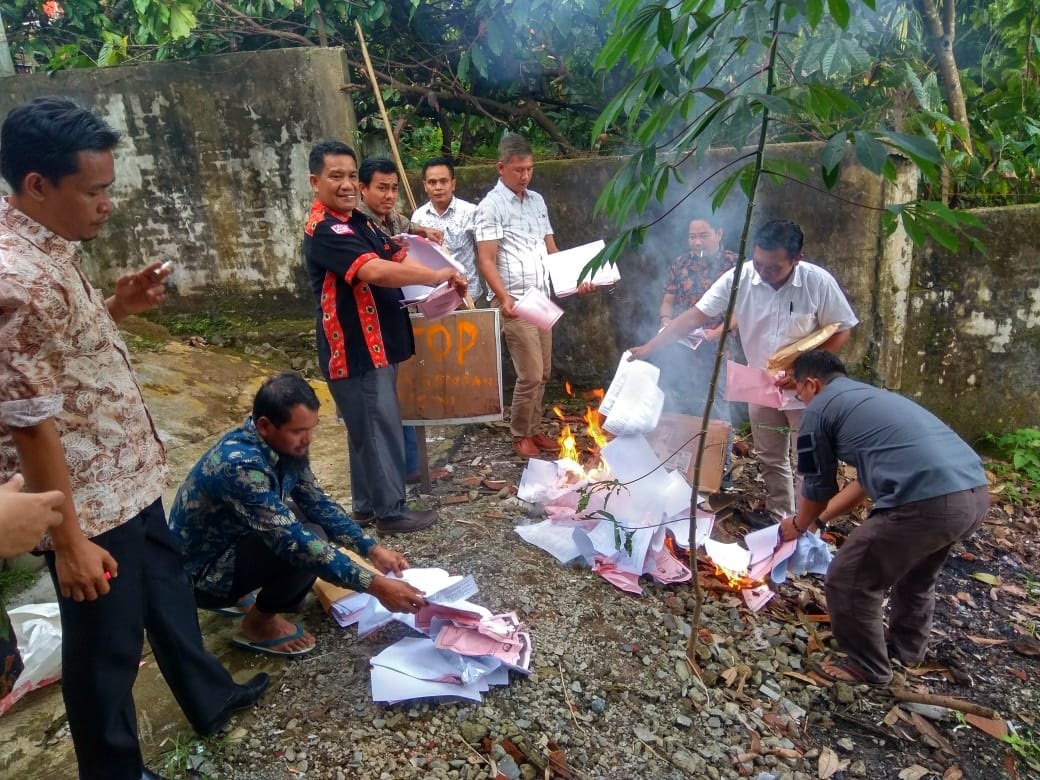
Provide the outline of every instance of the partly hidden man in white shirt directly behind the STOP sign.
[[444,249],[466,269],[469,294],[476,301],[484,293],[476,270],[476,241],[473,238],[476,204],[456,198],[454,165],[448,157],[426,160],[422,166],[422,187],[430,200],[415,210],[412,223],[444,234]]

